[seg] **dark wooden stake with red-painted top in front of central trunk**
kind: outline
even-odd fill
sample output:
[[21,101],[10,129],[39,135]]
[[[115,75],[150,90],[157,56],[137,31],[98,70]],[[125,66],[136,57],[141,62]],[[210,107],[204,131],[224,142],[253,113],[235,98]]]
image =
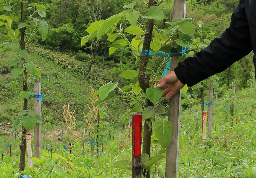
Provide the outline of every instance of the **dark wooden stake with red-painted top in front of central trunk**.
[[132,115],[132,178],[141,178],[142,115]]

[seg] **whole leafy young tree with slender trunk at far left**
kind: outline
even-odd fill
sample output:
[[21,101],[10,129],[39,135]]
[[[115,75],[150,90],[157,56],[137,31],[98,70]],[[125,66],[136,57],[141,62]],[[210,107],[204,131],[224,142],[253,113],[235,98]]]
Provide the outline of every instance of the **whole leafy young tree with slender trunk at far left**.
[[[18,4],[20,3],[20,5]],[[14,98],[21,96],[23,98],[23,109],[20,110],[18,117],[14,121],[14,127],[17,129],[22,123],[22,136],[20,138],[20,164],[19,171],[25,169],[25,154],[26,154],[26,131],[33,129],[36,123],[42,123],[39,115],[36,115],[34,110],[28,109],[28,100],[33,92],[28,91],[27,81],[29,79],[38,79],[41,77],[41,70],[37,64],[34,64],[35,59],[30,56],[25,49],[26,44],[35,39],[35,34],[39,32],[42,35],[42,40],[46,39],[48,34],[48,24],[45,20],[38,17],[46,17],[45,7],[37,3],[28,4],[27,1],[2,1],[1,7],[1,32],[6,34],[0,41],[0,52],[13,52],[17,55],[16,60],[10,63],[12,75],[15,79],[13,82],[6,84],[6,87],[23,88],[22,91],[17,91]],[[25,32],[26,28],[26,32]],[[18,90],[17,89],[17,90]],[[39,96],[38,96],[39,97]],[[41,96],[42,97],[42,96]]]

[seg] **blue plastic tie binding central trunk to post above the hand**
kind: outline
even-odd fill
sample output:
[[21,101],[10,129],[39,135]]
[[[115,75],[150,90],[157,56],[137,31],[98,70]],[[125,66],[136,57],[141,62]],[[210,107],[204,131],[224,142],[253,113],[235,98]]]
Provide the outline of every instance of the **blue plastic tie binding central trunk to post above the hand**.
[[[186,54],[186,47],[183,47],[183,49],[179,49],[177,51],[174,51],[173,53],[172,52],[158,52],[156,55],[183,55],[183,54]],[[151,51],[148,51],[148,50],[142,50],[141,51],[141,56],[147,56],[147,55],[153,55],[155,53],[151,52]],[[166,64],[166,67],[162,73],[162,77],[164,77],[168,72],[169,72],[169,67],[171,65],[171,56],[169,57],[169,60]]]

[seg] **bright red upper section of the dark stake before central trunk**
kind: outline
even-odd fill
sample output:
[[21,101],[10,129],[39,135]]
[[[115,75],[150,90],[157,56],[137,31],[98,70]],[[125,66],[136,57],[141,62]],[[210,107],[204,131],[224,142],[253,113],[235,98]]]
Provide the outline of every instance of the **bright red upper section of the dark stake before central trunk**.
[[132,115],[132,149],[135,157],[141,155],[142,115]]

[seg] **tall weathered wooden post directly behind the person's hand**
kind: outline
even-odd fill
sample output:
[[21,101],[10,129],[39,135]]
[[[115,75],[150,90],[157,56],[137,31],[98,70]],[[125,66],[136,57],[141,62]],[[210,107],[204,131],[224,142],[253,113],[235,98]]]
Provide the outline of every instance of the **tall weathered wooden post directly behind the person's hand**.
[[[174,0],[173,18],[186,17],[186,1]],[[173,71],[178,65],[180,56],[172,56],[170,71]],[[180,101],[181,90],[176,92],[169,99],[168,121],[173,125],[172,138],[169,146],[166,148],[166,172],[165,178],[177,178],[178,174],[178,153],[179,153],[179,125],[180,125]]]

